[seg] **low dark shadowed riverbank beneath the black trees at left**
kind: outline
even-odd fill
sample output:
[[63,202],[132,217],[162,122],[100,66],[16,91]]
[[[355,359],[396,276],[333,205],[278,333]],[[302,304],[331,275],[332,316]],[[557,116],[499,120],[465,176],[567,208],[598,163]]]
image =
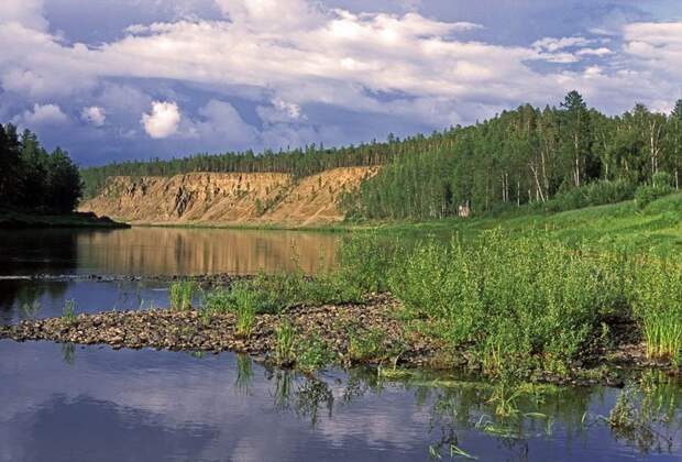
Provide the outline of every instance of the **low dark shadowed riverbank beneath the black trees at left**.
[[109,217],[98,217],[90,212],[62,215],[0,211],[0,229],[25,228],[130,228],[130,224],[113,221]]

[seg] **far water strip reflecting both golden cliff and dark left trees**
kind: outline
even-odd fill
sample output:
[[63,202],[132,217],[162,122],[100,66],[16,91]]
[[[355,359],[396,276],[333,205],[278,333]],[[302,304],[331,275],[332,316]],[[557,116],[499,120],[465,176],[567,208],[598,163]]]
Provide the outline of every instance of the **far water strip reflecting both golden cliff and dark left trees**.
[[339,235],[300,231],[133,228],[0,231],[0,275],[254,274],[336,264]]

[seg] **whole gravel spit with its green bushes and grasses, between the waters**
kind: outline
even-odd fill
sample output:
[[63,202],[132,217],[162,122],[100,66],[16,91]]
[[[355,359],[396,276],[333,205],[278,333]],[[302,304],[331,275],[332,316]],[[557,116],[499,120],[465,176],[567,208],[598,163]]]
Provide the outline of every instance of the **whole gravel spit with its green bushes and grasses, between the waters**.
[[[504,381],[619,385],[637,369],[678,375],[682,266],[631,248],[502,229],[404,245],[348,237],[338,270],[170,284],[168,309],[24,321],[0,337],[248,352],[316,371],[375,364]],[[198,293],[197,290],[201,290]],[[201,300],[193,306],[193,300]]]

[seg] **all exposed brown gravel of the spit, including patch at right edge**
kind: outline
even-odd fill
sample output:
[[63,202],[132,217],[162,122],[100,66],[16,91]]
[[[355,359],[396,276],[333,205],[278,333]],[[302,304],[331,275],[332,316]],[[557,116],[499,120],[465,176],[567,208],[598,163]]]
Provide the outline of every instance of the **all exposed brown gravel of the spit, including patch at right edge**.
[[[0,326],[0,339],[106,344],[114,350],[232,351],[274,365],[294,366],[295,361],[282,363],[275,359],[277,329],[287,321],[296,332],[295,343],[319,338],[331,353],[332,364],[480,372],[465,351],[454,351],[437,339],[408,331],[397,317],[399,309],[399,301],[388,294],[369,296],[364,304],[297,307],[284,315],[257,315],[249,336],[238,333],[238,320],[233,314],[205,317],[194,309],[108,311]],[[568,375],[529,371],[529,380],[559,385],[619,387],[626,377],[641,370],[657,369],[670,375],[679,373],[668,361],[648,360],[645,350],[642,342],[625,336],[613,348],[595,351],[588,361],[573,364]]]

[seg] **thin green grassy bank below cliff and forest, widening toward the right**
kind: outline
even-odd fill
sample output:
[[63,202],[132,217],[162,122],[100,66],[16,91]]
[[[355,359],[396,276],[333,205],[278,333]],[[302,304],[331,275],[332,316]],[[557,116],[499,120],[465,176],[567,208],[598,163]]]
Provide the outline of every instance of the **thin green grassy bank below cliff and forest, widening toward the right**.
[[245,231],[305,231],[322,233],[376,233],[384,235],[476,239],[503,228],[509,237],[542,232],[561,241],[583,242],[595,248],[628,246],[631,250],[668,254],[682,250],[682,194],[673,194],[639,208],[635,201],[546,212],[522,207],[498,216],[425,221],[343,221],[318,226],[286,223],[134,223],[134,227],[179,229],[232,229]]

